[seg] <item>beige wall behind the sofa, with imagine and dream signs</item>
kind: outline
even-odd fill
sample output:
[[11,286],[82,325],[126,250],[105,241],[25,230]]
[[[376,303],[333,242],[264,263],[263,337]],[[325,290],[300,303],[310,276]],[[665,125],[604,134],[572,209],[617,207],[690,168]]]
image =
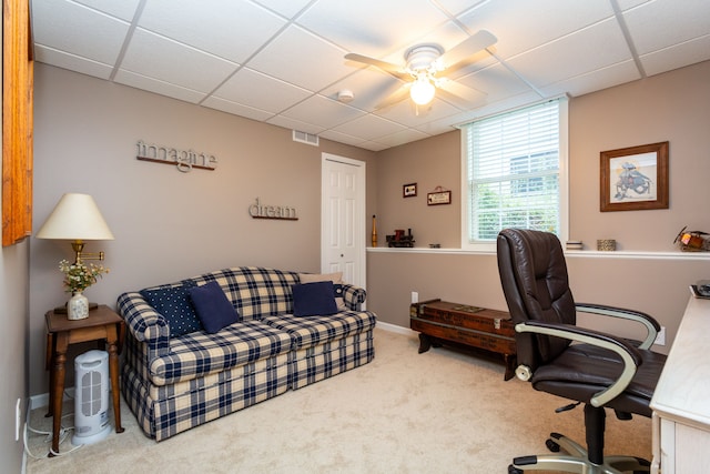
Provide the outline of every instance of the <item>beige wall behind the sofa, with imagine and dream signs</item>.
[[[38,64],[34,228],[64,192],[92,194],[115,240],[103,250],[111,273],[87,295],[114,306],[129,290],[234,265],[321,270],[321,154],[367,162],[375,153],[321,141],[295,143],[291,130]],[[139,140],[217,157],[215,171],[181,173],[135,159]],[[369,186],[369,185],[368,185]],[[367,213],[374,213],[368,193]],[[298,221],[256,220],[247,209],[290,205]],[[32,238],[30,392],[47,392],[44,312],[63,304],[59,260],[67,242]]]

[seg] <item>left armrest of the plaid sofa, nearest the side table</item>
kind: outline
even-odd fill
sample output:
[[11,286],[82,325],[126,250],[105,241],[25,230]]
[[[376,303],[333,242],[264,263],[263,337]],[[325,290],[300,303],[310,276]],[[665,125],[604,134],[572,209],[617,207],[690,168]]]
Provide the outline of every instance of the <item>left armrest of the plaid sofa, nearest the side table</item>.
[[170,326],[162,314],[138,292],[123,293],[116,306],[129,334],[146,345],[149,360],[170,353]]

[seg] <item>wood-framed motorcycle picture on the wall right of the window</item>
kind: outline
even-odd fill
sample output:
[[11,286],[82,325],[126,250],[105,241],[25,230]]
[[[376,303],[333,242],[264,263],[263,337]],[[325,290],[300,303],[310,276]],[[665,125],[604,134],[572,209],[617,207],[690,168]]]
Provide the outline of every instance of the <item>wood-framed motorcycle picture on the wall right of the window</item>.
[[601,212],[668,209],[668,142],[600,153]]

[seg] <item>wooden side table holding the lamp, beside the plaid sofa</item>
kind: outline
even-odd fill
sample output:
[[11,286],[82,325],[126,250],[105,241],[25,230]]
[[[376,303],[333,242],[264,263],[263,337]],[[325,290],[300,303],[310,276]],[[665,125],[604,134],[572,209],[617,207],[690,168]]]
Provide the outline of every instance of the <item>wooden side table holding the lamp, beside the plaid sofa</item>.
[[50,371],[49,412],[52,420],[52,451],[59,453],[59,433],[62,421],[62,399],[64,394],[64,375],[67,349],[70,344],[104,340],[109,351],[109,372],[111,391],[113,392],[113,414],[115,432],[123,433],[121,426],[121,399],[119,393],[119,347],[123,342],[124,324],[121,316],[105,304],[89,312],[89,317],[70,321],[67,314],[48,311],[47,320],[47,369]]

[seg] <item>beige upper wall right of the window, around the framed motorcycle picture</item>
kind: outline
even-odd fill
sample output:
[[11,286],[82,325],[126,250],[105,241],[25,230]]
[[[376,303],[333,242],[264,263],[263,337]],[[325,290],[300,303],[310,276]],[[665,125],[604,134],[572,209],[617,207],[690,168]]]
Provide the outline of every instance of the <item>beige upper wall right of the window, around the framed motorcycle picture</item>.
[[[710,232],[709,81],[706,61],[570,102],[571,239],[670,251],[684,225]],[[599,152],[661,141],[670,142],[669,209],[599,212]]]

